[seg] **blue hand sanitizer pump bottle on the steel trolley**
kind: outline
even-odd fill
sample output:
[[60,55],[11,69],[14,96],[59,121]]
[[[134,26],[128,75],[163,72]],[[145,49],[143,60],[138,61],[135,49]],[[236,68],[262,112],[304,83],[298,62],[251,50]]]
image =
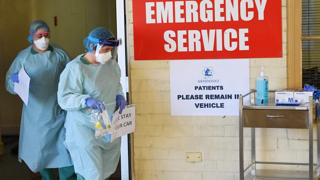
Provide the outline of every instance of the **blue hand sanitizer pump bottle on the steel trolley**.
[[258,104],[268,102],[268,76],[264,76],[264,67],[261,67],[260,76],[256,78],[256,99]]

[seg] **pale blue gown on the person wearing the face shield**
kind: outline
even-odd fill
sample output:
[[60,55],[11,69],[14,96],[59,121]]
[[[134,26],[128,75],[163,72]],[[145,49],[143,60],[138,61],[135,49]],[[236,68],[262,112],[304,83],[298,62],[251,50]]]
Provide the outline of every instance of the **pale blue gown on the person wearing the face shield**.
[[110,143],[110,135],[95,137],[85,99],[91,97],[104,102],[111,119],[116,109],[116,95],[124,95],[121,72],[115,60],[95,65],[82,56],[69,62],[60,77],[58,102],[67,110],[64,145],[70,152],[76,173],[86,180],[104,180],[117,168],[121,138]]

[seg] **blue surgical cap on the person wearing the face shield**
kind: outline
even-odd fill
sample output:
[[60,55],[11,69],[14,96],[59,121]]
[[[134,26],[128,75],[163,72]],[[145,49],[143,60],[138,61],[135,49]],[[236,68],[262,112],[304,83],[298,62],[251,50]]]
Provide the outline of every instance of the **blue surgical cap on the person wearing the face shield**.
[[[107,30],[107,29],[101,28],[101,27],[92,30],[89,33],[89,36],[96,38],[96,39],[103,39],[103,40],[107,40],[111,37],[114,38],[114,35],[110,30]],[[88,37],[83,39],[83,45],[87,48],[86,52],[92,53],[94,51],[95,46],[98,44],[98,42],[90,40],[90,39],[88,39]]]

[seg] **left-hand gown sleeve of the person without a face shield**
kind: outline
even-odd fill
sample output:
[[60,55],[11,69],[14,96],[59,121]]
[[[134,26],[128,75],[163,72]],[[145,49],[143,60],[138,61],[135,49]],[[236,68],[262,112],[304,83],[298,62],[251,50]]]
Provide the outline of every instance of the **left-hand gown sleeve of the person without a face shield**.
[[26,59],[27,53],[25,51],[22,51],[18,54],[18,56],[13,60],[9,70],[7,71],[5,75],[5,89],[10,92],[11,94],[17,94],[14,91],[14,82],[11,81],[11,76],[14,73],[19,73],[21,67],[23,66],[23,63]]

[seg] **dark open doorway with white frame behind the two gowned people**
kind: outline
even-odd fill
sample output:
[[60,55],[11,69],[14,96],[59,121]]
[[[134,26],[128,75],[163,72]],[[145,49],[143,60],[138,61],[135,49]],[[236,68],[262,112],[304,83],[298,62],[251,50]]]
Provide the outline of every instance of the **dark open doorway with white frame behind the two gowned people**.
[[[127,94],[126,99],[128,99],[125,0],[0,0],[0,4],[2,7],[0,7],[0,27],[2,27],[0,32],[3,34],[0,40],[5,44],[0,45],[4,60],[0,67],[2,73],[0,83],[2,85],[4,85],[5,72],[18,52],[30,45],[27,42],[30,24],[34,20],[41,19],[50,27],[50,42],[63,47],[72,59],[84,53],[83,38],[96,27],[107,28],[117,38],[121,38],[122,45],[119,46],[118,63],[122,71],[121,83],[124,93]],[[10,35],[12,32],[14,32],[14,36]],[[2,99],[0,102],[1,133],[17,138],[20,129],[22,101],[19,97],[6,92],[3,87],[0,89],[0,97]],[[10,107],[15,107],[15,109]],[[10,148],[6,151],[11,153],[11,145],[14,146],[12,143],[18,141],[8,137],[3,142],[4,146],[11,143]],[[131,180],[129,145],[129,136],[122,137],[121,159],[110,180]],[[16,161],[15,157],[12,159]],[[17,163],[13,166],[26,165]],[[8,179],[8,176],[4,175],[4,177]],[[36,175],[32,175],[32,177],[35,178]],[[26,180],[28,179],[30,177],[26,177]]]

